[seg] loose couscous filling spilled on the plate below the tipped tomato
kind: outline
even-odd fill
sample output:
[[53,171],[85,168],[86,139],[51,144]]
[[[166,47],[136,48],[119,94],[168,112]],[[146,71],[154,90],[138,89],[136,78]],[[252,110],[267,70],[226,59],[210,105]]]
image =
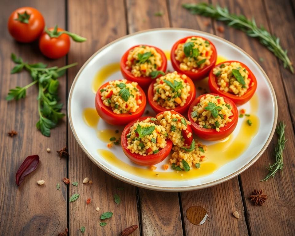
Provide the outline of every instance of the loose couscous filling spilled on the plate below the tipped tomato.
[[177,171],[189,171],[191,167],[200,168],[200,162],[205,160],[207,147],[193,140],[190,147],[174,146],[172,151],[171,159],[169,159],[172,168]]

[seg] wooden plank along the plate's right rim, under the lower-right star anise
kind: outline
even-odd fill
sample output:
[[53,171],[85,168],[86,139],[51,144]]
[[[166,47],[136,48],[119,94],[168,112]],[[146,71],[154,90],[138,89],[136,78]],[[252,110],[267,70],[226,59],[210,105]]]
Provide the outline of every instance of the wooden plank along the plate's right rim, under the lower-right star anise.
[[[268,1],[269,2],[269,1]],[[213,2],[214,5],[217,1]],[[255,16],[257,25],[264,25],[268,28],[267,18],[261,1],[218,1],[221,6],[227,6],[230,12],[236,14],[245,14],[246,17],[251,18]],[[245,9],[243,6],[247,6]],[[279,14],[277,12],[269,15],[269,18],[276,18]],[[284,22],[284,24],[287,24]],[[283,25],[281,27],[283,27]],[[218,23],[222,25],[222,23]],[[286,26],[288,27],[288,26]],[[290,29],[290,28],[289,28]],[[263,179],[268,171],[265,166],[268,163],[274,162],[274,145],[276,139],[274,138],[269,145],[269,148],[265,151],[262,157],[248,170],[241,174],[241,185],[243,196],[246,203],[246,215],[248,217],[248,224],[251,235],[291,235],[294,232],[294,159],[293,156],[294,147],[294,133],[290,114],[288,111],[287,100],[285,97],[284,86],[281,81],[281,75],[278,69],[277,59],[270,53],[265,47],[263,47],[257,40],[246,36],[244,33],[238,30],[225,26],[224,33],[217,32],[221,37],[224,37],[236,45],[240,46],[247,53],[254,57],[257,61],[259,58],[263,58],[263,62],[259,62],[262,65],[265,72],[268,74],[269,79],[275,89],[277,102],[279,106],[278,121],[283,120],[287,124],[285,133],[288,143],[284,152],[284,174],[277,173],[274,179],[269,179],[267,182],[259,182]],[[288,40],[289,35],[279,35],[286,37]],[[284,78],[285,79],[285,78]],[[293,90],[294,91],[294,90]],[[268,195],[268,199],[263,206],[254,206],[248,199],[253,189],[262,189],[265,194]]]

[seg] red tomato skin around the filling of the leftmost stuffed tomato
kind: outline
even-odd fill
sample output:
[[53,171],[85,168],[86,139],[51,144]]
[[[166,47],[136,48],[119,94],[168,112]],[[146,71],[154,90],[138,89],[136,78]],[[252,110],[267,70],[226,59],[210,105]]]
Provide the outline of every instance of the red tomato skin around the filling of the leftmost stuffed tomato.
[[[144,113],[144,109],[147,104],[147,99],[144,94],[144,91],[142,88],[140,88],[139,85],[137,85],[137,89],[141,93],[141,101],[142,103],[140,104],[139,108],[133,112],[131,115],[129,113],[124,113],[124,114],[115,114],[110,108],[106,107],[100,96],[100,89],[104,88],[105,86],[108,85],[109,82],[105,83],[104,85],[101,85],[100,88],[96,92],[95,96],[95,108],[98,113],[98,115],[108,124],[112,125],[125,125],[131,122],[132,120],[135,120],[139,117],[141,117]],[[127,83],[131,83],[131,81],[127,81]]]

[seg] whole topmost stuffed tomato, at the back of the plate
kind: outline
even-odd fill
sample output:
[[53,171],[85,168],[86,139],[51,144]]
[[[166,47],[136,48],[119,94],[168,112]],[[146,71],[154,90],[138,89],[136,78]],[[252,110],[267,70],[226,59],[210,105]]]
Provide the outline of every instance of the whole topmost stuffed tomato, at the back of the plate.
[[178,40],[171,49],[171,63],[179,73],[192,80],[208,76],[217,60],[217,51],[212,42],[200,36]]

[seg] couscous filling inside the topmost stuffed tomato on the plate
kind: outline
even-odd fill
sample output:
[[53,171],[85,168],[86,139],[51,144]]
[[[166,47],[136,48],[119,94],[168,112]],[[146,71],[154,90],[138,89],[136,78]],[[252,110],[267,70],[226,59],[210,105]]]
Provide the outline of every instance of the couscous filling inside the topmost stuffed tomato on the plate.
[[212,53],[209,41],[201,37],[191,37],[185,43],[180,43],[177,46],[175,59],[180,62],[181,70],[195,72],[210,65]]

